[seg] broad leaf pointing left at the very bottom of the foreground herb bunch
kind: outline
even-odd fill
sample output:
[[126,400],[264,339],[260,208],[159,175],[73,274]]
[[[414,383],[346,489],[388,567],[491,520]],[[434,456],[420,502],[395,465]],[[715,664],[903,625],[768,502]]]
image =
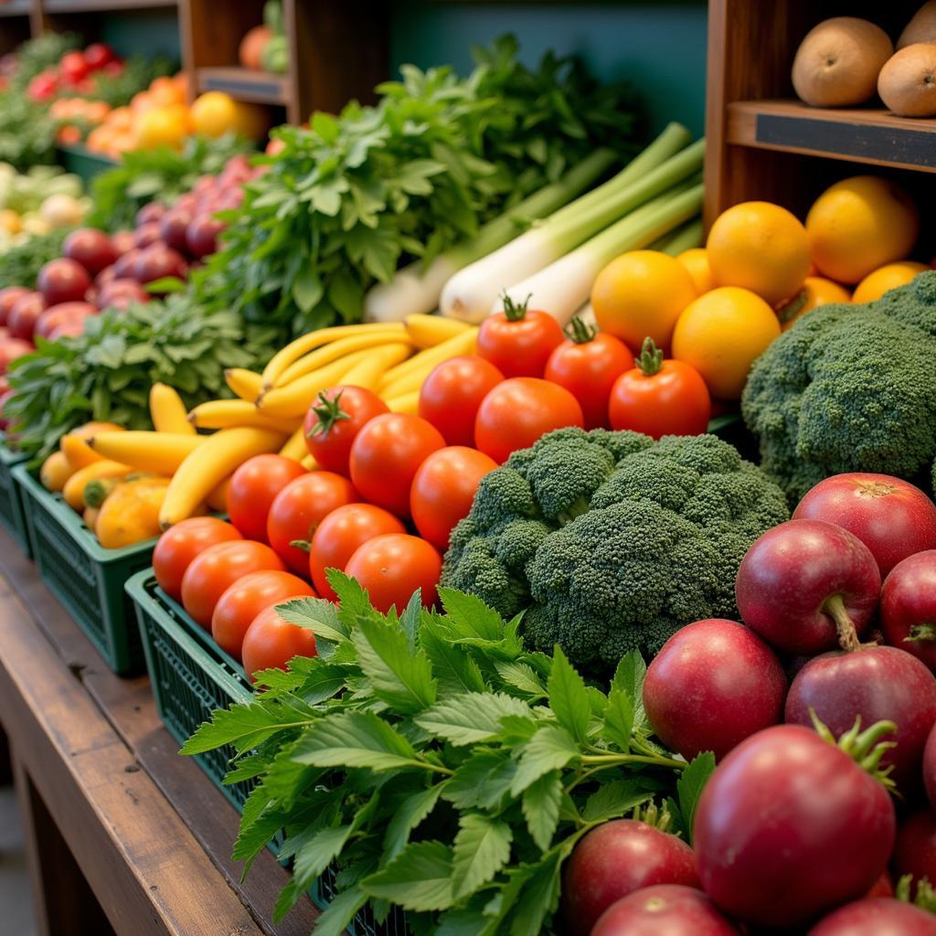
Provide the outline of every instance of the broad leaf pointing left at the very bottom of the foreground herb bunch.
[[405,910],[447,910],[453,903],[452,850],[441,841],[410,842],[360,887],[369,897],[387,899]]

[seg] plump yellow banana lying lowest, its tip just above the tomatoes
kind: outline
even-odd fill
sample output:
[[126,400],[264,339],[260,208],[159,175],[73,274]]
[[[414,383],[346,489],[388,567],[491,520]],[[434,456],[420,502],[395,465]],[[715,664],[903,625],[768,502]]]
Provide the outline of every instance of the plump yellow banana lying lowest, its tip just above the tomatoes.
[[205,439],[179,466],[166,491],[159,512],[159,525],[167,530],[173,523],[191,517],[198,505],[244,461],[255,455],[275,452],[283,446],[283,433],[241,426],[222,429]]

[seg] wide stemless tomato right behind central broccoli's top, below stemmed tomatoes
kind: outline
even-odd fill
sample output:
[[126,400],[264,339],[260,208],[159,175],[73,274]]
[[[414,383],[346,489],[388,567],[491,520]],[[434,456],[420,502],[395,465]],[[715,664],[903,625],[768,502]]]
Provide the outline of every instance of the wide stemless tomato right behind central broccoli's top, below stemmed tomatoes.
[[475,446],[494,461],[532,446],[547,432],[585,426],[578,400],[563,387],[535,377],[514,377],[493,388],[475,417]]

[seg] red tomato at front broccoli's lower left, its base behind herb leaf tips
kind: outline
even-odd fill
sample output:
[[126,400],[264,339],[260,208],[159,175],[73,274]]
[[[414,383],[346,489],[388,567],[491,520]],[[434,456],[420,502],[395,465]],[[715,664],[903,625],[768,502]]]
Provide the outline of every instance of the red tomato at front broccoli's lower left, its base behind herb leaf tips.
[[359,546],[344,571],[367,589],[378,611],[386,613],[394,606],[402,611],[417,589],[422,590],[423,605],[432,607],[442,557],[418,536],[391,533]]

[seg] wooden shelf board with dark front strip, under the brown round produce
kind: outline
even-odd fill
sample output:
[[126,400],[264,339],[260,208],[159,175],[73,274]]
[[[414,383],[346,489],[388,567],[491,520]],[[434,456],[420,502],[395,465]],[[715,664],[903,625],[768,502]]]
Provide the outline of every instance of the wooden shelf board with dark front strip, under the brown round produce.
[[936,172],[936,120],[911,120],[889,110],[737,101],[727,106],[726,139],[782,153]]

